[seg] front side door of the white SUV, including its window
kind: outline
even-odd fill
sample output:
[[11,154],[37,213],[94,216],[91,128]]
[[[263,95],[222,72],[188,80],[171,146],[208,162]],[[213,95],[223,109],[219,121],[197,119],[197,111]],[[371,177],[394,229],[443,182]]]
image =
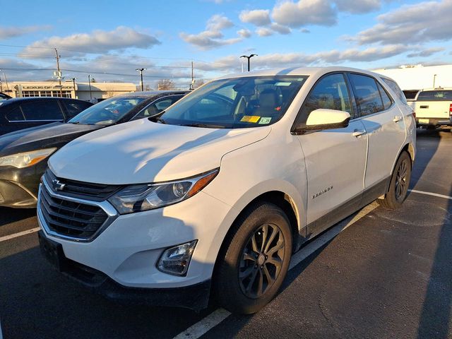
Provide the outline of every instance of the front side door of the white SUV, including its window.
[[307,237],[314,237],[359,208],[364,191],[367,135],[354,121],[350,91],[343,73],[323,76],[304,101],[297,124],[306,123],[314,109],[349,112],[343,129],[299,135],[307,167]]

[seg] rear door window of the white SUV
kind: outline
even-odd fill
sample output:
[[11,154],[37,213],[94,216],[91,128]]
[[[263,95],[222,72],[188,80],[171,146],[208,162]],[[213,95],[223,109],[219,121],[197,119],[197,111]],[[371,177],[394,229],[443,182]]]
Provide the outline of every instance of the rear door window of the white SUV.
[[361,115],[369,115],[384,110],[380,92],[374,78],[360,74],[350,74],[353,92],[358,112]]

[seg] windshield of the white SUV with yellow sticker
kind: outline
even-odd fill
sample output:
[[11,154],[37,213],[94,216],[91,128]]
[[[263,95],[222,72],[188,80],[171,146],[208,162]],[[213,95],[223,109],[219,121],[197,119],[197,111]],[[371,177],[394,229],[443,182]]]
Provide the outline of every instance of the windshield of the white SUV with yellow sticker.
[[251,76],[212,81],[167,109],[163,124],[238,129],[278,121],[307,76]]

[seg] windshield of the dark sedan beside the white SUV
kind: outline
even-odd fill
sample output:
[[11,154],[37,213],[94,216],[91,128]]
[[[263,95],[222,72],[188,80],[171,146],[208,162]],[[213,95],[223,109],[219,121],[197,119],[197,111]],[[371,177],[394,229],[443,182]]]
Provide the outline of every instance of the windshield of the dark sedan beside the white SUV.
[[68,122],[82,125],[112,125],[143,100],[145,97],[110,97],[85,109]]

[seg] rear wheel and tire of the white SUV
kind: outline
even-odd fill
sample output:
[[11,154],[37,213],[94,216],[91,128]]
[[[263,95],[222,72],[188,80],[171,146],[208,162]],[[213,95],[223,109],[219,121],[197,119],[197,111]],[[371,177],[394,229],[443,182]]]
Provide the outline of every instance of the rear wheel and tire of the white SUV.
[[383,200],[379,200],[381,206],[389,210],[395,210],[402,206],[408,195],[408,186],[410,186],[411,165],[410,155],[403,151],[396,162],[396,167],[394,167],[388,193]]

